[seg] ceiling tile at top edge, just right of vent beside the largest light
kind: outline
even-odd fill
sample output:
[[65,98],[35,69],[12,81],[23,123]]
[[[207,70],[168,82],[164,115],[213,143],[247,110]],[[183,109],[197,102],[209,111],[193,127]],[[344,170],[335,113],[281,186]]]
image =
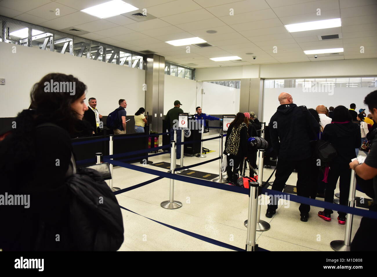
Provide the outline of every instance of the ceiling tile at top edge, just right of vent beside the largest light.
[[160,18],[166,17],[168,15],[176,15],[183,12],[195,11],[198,9],[202,9],[202,7],[192,0],[176,0],[166,4],[152,6],[148,8],[148,13]]

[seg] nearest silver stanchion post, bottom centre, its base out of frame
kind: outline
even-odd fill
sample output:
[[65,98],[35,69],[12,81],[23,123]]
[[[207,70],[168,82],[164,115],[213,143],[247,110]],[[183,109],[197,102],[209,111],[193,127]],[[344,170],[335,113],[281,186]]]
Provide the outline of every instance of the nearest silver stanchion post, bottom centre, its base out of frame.
[[256,239],[256,222],[258,209],[259,184],[249,180],[249,209],[247,220],[250,224],[247,226],[246,251],[257,251],[258,245]]

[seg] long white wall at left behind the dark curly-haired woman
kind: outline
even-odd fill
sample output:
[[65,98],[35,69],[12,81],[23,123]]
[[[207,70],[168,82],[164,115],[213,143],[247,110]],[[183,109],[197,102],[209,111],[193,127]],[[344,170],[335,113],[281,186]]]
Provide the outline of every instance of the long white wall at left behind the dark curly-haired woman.
[[0,117],[15,117],[28,108],[32,85],[52,72],[72,74],[84,82],[86,102],[97,98],[103,115],[119,107],[119,99],[127,100],[127,115],[145,105],[145,70],[25,46],[16,46],[16,53],[12,53],[13,46],[0,42],[0,78],[6,79],[6,84],[0,85]]

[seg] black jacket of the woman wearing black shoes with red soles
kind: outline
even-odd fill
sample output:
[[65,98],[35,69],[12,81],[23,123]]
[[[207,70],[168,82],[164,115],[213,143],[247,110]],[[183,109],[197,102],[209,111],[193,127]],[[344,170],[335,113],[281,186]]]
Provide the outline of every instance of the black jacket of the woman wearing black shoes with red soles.
[[331,143],[337,151],[336,163],[350,163],[356,158],[355,148],[361,146],[360,127],[353,122],[331,123],[325,126],[322,140]]

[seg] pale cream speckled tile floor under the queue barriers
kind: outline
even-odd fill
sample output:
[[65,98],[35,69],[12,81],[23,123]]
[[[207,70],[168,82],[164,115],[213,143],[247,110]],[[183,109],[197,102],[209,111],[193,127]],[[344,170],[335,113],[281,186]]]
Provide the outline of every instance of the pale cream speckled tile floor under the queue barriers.
[[[204,142],[204,147],[216,152],[208,153],[206,158],[185,157],[184,165],[218,157],[218,139]],[[170,155],[159,155],[150,160],[155,163],[170,162]],[[137,165],[167,172],[166,169],[155,166]],[[218,174],[219,161],[193,169]],[[271,173],[271,169],[264,169],[263,179],[267,180]],[[155,175],[115,167],[113,185],[123,189],[155,177]],[[274,180],[274,177],[271,180]],[[293,173],[287,184],[296,185],[296,181],[297,174]],[[176,210],[167,210],[163,209],[160,203],[169,200],[169,186],[170,180],[164,178],[116,196],[120,205],[140,214],[136,215],[122,209],[124,243],[120,251],[231,251],[172,230],[143,216],[245,248],[247,228],[244,227],[244,221],[248,214],[247,195],[175,181],[174,199],[181,201],[183,205]],[[338,188],[336,192],[339,192]],[[356,192],[356,195],[365,196],[360,192]],[[323,198],[319,199],[323,200]],[[325,222],[317,216],[318,211],[323,209],[312,206],[309,221],[301,222],[299,204],[292,201],[289,201],[289,204],[288,208],[280,205],[273,218],[265,217],[267,205],[262,205],[261,219],[269,222],[271,229],[257,232],[257,244],[260,247],[271,251],[331,251],[329,245],[331,240],[344,239],[345,225],[338,224],[336,212],[332,215],[331,222]],[[354,216],[352,237],[359,227],[360,219],[360,216]]]

